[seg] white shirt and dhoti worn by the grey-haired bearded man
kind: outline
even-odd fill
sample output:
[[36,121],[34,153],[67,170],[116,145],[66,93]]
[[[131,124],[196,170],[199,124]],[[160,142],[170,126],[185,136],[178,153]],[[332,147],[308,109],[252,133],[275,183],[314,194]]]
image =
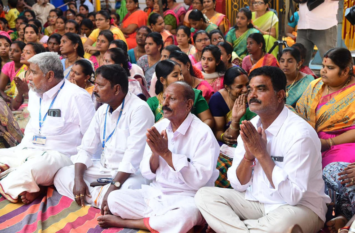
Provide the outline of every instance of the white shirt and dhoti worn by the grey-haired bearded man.
[[[47,138],[45,145],[33,144],[33,135],[39,133],[39,111],[43,118],[57,93],[51,109],[59,109],[60,117],[47,116],[40,134]],[[55,173],[61,167],[72,164],[69,156],[76,153],[76,147],[89,126],[88,119],[95,113],[87,91],[67,80],[41,96],[41,107],[40,96],[32,89],[28,95],[31,119],[22,142],[12,148],[0,149],[0,162],[9,167],[0,173],[0,193],[12,202],[16,202],[18,195],[24,191],[38,192],[38,185],[53,184]]]

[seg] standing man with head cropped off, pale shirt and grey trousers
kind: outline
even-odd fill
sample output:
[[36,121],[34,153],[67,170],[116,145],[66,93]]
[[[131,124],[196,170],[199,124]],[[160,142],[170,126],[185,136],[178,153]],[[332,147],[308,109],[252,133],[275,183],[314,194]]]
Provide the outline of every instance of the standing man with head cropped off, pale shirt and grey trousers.
[[[325,0],[313,10],[308,10],[307,2],[300,4],[298,14],[296,43],[301,43],[307,49],[304,64],[309,65],[314,45],[321,57],[337,46],[339,0]],[[316,3],[317,1],[313,2]]]

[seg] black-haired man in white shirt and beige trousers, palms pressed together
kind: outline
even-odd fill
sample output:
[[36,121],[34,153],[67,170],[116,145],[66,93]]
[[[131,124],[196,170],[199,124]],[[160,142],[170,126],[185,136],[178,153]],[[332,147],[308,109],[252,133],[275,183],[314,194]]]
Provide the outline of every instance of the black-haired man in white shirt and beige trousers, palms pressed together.
[[286,77],[279,68],[257,68],[249,79],[249,108],[258,116],[240,126],[227,172],[234,189],[201,188],[196,205],[215,232],[286,232],[294,224],[318,232],[330,198],[317,133],[285,106]]

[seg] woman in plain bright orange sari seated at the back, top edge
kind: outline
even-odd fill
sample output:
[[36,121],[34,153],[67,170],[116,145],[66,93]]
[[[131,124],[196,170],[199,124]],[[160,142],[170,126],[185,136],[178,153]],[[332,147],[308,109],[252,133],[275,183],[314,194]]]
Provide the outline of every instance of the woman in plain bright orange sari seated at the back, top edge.
[[121,31],[125,34],[128,49],[133,49],[137,46],[136,30],[143,25],[147,25],[147,13],[139,9],[138,0],[127,0],[126,8],[127,15],[123,18]]

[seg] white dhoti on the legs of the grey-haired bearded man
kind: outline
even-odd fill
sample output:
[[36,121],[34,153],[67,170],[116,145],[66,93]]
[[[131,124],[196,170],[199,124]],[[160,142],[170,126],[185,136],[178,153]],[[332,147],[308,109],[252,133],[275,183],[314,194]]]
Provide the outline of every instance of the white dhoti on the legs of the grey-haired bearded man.
[[16,203],[22,192],[52,185],[55,173],[72,162],[58,151],[9,148],[0,149],[0,164],[0,194]]

